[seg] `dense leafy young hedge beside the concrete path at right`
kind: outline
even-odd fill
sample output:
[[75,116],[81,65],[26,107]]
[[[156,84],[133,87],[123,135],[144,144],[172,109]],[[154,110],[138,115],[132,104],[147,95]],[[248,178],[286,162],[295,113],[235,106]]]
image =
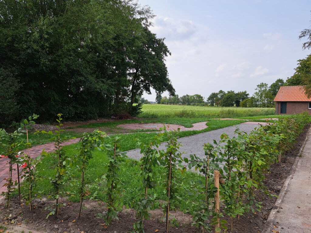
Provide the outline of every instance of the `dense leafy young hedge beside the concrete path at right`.
[[231,219],[231,231],[233,218],[250,210],[260,211],[261,203],[255,201],[254,189],[265,191],[264,173],[279,153],[291,148],[309,122],[309,114],[305,112],[262,126],[250,134],[236,131],[237,137],[221,135],[224,145],[213,162],[224,162],[224,166],[219,168],[225,177],[220,197],[224,203],[223,212]]

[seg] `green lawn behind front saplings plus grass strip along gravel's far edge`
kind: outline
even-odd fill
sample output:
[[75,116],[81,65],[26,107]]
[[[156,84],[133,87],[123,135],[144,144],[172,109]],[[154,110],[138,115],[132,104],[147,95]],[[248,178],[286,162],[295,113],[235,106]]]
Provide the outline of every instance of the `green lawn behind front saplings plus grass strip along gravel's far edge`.
[[[207,122],[207,125],[209,126],[207,129],[183,131],[180,132],[179,137],[185,137],[201,132],[215,130],[226,126],[232,126],[241,122],[244,122],[244,120],[211,120]],[[120,136],[120,149],[121,151],[127,151],[137,148],[136,139],[139,139],[144,143],[149,143],[155,135],[156,133],[142,132],[118,135]],[[77,154],[78,145],[79,144],[72,144],[66,146],[65,148],[67,155],[73,156],[74,154]],[[107,162],[106,154],[104,151],[100,152],[96,150],[93,152],[93,154],[94,158],[91,159],[90,165],[87,168],[86,172],[86,182],[90,185],[92,193],[90,198],[105,200],[105,181],[102,180],[101,177],[105,174],[106,171],[103,168],[103,164]],[[39,171],[39,174],[44,177],[43,179],[38,181],[39,191],[42,192],[43,195],[47,195],[52,189],[52,185],[49,182],[48,178],[54,175],[54,166],[56,162],[57,161],[55,161],[55,158],[53,158],[52,155],[48,155],[43,159],[42,165],[36,167],[36,169]],[[139,171],[139,166],[133,166],[133,160],[131,159],[127,159],[127,163],[123,164],[121,167],[120,178],[122,180],[123,191],[122,195],[118,197],[120,198],[120,200],[122,199],[124,204],[129,207],[133,207],[136,198],[143,194],[143,187],[139,178]],[[76,169],[71,169],[70,173],[71,176],[68,179],[72,181],[71,183],[73,183],[73,185],[65,185],[65,188],[63,189],[63,195],[68,196],[72,201],[79,201],[77,195],[73,194],[73,192],[77,189],[78,182],[80,182],[80,174],[77,173]],[[158,174],[157,180],[159,181],[159,183],[163,183],[160,182],[165,180],[165,171],[163,170],[163,167],[157,167],[156,174]],[[200,190],[200,184],[203,180],[203,177],[190,171],[185,172],[183,175],[180,172],[177,172],[175,177],[177,185],[176,188],[179,191],[178,196],[176,197],[175,201],[173,201],[173,205],[181,211],[192,213],[196,210],[199,202],[197,201],[198,197],[193,196],[191,193],[189,193],[189,190],[193,190],[194,188]],[[27,192],[26,187],[23,187],[22,190],[23,192]],[[68,195],[65,192],[69,192],[72,195]],[[160,200],[164,200],[166,197],[164,186],[158,185],[156,189],[153,190],[150,194],[157,196],[157,200],[154,203],[153,208],[159,208]]]

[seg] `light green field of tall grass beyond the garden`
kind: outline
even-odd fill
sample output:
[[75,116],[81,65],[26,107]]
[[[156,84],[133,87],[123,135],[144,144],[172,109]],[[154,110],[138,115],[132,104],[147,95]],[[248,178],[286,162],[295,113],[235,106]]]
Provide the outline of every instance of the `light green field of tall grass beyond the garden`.
[[275,109],[270,108],[243,108],[243,107],[201,107],[186,105],[144,104],[142,113],[138,117],[208,117],[208,118],[238,118],[260,115],[273,115]]

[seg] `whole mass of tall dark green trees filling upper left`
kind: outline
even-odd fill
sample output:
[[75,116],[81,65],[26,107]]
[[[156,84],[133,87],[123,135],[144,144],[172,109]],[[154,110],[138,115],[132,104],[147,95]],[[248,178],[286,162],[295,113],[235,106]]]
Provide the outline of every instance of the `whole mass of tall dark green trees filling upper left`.
[[0,97],[12,96],[15,119],[91,119],[130,111],[151,88],[174,95],[153,17],[131,0],[1,1],[0,86],[12,87]]

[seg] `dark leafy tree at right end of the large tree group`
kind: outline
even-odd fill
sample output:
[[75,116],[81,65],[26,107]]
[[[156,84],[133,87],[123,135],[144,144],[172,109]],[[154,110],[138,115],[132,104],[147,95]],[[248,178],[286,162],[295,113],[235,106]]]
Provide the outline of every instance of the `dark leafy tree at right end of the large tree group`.
[[142,36],[137,38],[129,58],[131,69],[128,72],[131,84],[130,111],[136,95],[146,92],[151,94],[151,88],[160,95],[169,91],[171,95],[175,90],[168,78],[165,57],[170,55],[164,39],[156,38],[156,34],[145,27]]

